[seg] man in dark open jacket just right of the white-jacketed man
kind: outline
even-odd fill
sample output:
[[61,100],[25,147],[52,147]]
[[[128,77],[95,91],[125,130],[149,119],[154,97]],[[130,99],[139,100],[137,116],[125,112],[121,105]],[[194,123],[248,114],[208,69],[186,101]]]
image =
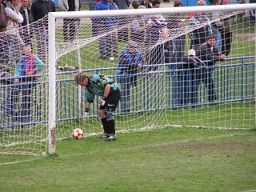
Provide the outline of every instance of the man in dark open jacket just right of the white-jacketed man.
[[22,14],[23,22],[21,36],[25,43],[29,43],[32,46],[32,34],[33,29],[31,29],[30,23],[34,22],[33,15],[31,14],[29,0],[22,0],[22,6],[19,9],[19,12]]

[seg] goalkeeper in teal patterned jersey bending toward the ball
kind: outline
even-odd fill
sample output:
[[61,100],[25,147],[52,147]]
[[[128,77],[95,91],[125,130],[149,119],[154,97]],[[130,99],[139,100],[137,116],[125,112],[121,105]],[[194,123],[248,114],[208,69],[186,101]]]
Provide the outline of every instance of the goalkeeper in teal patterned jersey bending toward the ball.
[[86,87],[86,111],[83,117],[85,121],[89,118],[90,105],[94,102],[95,95],[102,96],[99,100],[99,117],[104,133],[98,138],[106,138],[106,141],[116,140],[113,112],[118,106],[121,95],[118,84],[101,74],[82,73],[74,76],[74,82]]

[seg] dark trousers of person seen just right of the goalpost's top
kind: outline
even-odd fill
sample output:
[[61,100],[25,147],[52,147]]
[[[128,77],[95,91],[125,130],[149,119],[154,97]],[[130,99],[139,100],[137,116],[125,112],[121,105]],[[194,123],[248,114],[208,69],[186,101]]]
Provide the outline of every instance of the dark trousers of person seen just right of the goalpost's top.
[[64,42],[74,41],[76,32],[76,18],[63,18],[63,37]]

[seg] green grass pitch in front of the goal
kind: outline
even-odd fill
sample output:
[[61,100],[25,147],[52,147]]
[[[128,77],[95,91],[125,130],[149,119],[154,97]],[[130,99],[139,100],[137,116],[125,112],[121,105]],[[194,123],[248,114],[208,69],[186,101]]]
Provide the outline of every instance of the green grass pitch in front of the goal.
[[256,190],[256,130],[166,128],[58,142],[46,157],[0,157],[0,191]]

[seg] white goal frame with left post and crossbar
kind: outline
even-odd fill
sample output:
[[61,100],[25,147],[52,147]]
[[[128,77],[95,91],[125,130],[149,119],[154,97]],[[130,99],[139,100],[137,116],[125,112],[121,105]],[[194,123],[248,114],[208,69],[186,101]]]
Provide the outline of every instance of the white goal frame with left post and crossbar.
[[[49,154],[55,154],[56,150],[56,50],[55,50],[55,19],[56,18],[92,18],[92,17],[113,17],[127,15],[145,15],[145,14],[177,14],[177,13],[196,13],[223,10],[256,10],[256,3],[238,4],[229,6],[189,6],[176,8],[159,8],[159,9],[143,9],[143,10],[98,10],[98,11],[70,11],[70,12],[50,12],[48,14],[49,25]],[[255,29],[256,31],[256,29]],[[256,44],[256,38],[255,38]],[[255,50],[256,52],[256,50]],[[256,63],[256,58],[255,58]],[[255,69],[256,74],[256,69]],[[256,82],[255,82],[256,86]],[[255,93],[256,95],[256,93]],[[256,104],[255,104],[256,106]]]

